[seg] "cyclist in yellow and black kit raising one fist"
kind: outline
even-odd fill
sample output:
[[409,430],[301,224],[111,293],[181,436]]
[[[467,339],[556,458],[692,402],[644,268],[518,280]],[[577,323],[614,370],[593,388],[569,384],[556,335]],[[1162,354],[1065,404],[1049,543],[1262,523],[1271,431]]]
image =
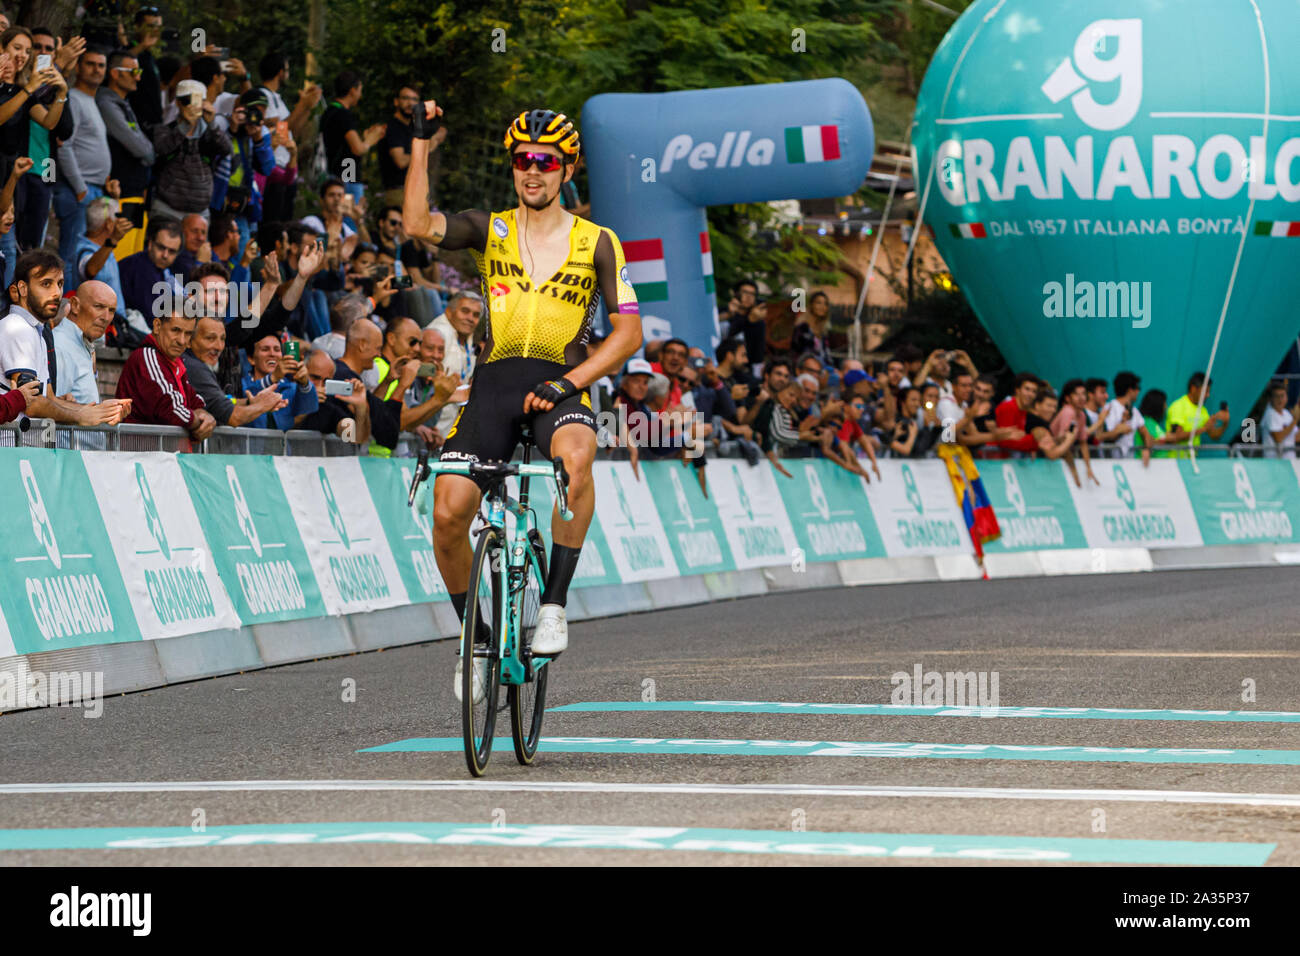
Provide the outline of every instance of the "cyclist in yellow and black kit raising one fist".
[[[508,459],[523,424],[530,424],[543,455],[564,459],[573,520],[551,518],[550,570],[533,633],[533,652],[552,656],[568,646],[564,604],[595,507],[597,425],[585,389],[620,369],[641,347],[641,313],[619,238],[559,203],[580,148],[577,130],[563,113],[520,113],[506,133],[516,208],[451,216],[429,212],[429,139],[441,116],[433,100],[415,109],[402,215],[410,235],[471,250],[488,303],[482,355],[469,399],[447,432],[442,460]],[[588,356],[592,317],[602,298],[614,330]],[[433,489],[434,557],[462,619],[473,561],[469,524],[482,492],[463,475],[439,475]],[[459,697],[459,658],[455,687]],[[474,696],[481,692],[476,675]]]

